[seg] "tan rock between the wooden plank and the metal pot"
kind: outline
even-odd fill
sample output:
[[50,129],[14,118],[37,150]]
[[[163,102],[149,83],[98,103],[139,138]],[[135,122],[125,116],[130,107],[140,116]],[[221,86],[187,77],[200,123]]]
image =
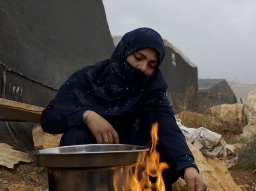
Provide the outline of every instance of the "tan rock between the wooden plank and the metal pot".
[[53,135],[46,133],[42,130],[40,125],[36,125],[32,130],[34,148],[47,149],[52,147],[58,147],[60,144],[62,134]]

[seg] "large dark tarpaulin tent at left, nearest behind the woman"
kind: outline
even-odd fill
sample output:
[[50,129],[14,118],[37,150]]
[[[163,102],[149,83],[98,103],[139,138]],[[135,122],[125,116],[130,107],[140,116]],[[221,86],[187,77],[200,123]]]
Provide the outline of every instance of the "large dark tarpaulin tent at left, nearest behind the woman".
[[[114,50],[101,0],[1,0],[0,28],[1,97],[41,107],[70,74]],[[33,125],[2,121],[0,141],[31,150]]]

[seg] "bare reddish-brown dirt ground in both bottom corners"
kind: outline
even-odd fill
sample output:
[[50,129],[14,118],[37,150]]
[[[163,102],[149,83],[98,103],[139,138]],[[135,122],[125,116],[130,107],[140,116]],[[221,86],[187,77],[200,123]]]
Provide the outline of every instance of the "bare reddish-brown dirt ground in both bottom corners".
[[[8,190],[8,186],[16,183],[23,183],[28,186],[33,186],[41,190],[48,188],[47,169],[43,168],[42,173],[37,174],[39,184],[30,178],[30,173],[34,170],[34,166],[28,163],[20,163],[14,166],[14,169],[8,169],[0,166],[0,190]],[[241,171],[237,169],[229,170],[231,176],[237,185],[248,184],[247,191],[255,191],[256,173],[252,171]]]

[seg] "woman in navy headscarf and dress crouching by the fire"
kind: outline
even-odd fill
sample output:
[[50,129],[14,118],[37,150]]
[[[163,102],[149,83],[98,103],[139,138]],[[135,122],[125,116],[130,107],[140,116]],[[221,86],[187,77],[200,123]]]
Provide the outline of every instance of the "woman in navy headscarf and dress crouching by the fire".
[[206,186],[176,124],[167,84],[159,69],[164,42],[150,28],[126,33],[108,60],[81,68],[61,86],[42,112],[45,132],[64,133],[60,146],[78,144],[147,145],[159,123],[158,150],[166,190],[180,176],[190,190]]

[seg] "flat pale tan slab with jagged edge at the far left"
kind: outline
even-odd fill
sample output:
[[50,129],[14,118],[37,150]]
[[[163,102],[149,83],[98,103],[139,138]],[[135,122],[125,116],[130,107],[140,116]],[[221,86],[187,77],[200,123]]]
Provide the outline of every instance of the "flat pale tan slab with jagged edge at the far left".
[[7,168],[14,168],[14,165],[19,162],[32,162],[32,157],[17,150],[14,150],[10,145],[0,143],[0,165]]

